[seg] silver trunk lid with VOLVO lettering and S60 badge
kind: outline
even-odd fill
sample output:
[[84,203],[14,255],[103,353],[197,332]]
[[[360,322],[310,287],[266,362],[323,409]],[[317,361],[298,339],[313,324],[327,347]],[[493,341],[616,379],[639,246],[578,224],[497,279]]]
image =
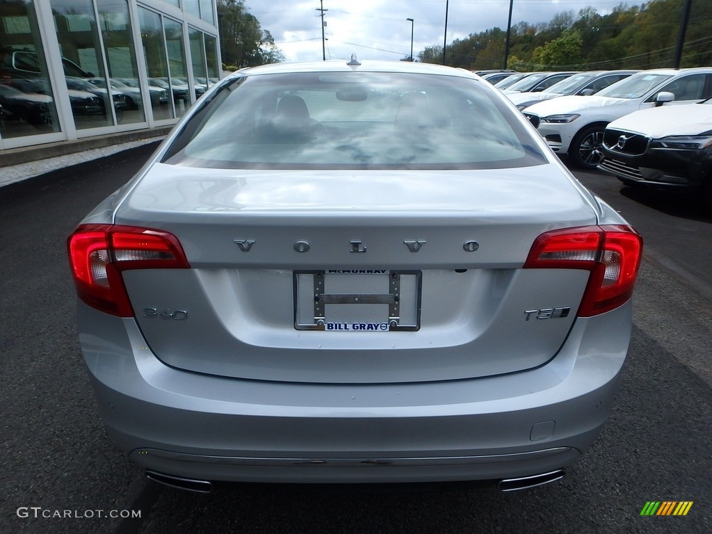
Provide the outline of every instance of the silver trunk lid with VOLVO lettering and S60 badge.
[[555,164],[157,164],[115,222],[171,232],[190,263],[122,273],[147,344],[168,365],[291,382],[419,382],[515,372],[556,355],[589,273],[522,267],[543,232],[596,224],[592,206]]

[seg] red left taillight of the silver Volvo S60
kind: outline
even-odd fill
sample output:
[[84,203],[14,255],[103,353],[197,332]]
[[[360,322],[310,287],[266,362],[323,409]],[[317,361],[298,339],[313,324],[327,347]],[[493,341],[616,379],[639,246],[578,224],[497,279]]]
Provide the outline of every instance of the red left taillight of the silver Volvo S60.
[[121,271],[190,268],[178,239],[161,230],[83,224],[69,236],[68,248],[79,298],[119,317],[134,315]]

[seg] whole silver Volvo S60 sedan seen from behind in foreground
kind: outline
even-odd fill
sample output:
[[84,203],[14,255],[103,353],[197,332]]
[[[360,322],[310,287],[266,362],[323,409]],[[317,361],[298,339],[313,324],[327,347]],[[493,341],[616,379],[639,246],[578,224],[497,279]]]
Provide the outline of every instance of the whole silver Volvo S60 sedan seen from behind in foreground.
[[607,419],[642,239],[486,81],[352,57],[221,80],[68,247],[149,478],[514,490]]

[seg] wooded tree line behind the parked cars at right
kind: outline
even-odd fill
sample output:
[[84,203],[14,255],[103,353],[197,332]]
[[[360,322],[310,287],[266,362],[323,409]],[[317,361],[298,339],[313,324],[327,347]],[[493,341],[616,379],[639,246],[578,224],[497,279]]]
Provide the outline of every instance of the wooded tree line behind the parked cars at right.
[[[619,4],[609,14],[587,7],[562,11],[548,23],[511,27],[507,68],[608,70],[673,66],[684,0]],[[504,67],[506,29],[491,28],[456,39],[445,48],[449,66],[468,70]],[[429,46],[419,61],[442,63],[443,47]],[[681,67],[712,65],[712,0],[693,0]]]

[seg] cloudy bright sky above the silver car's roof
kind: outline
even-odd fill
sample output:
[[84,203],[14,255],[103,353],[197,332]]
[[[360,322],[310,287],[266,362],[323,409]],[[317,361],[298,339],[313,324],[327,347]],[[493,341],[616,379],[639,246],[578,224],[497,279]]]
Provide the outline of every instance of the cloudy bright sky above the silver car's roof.
[[[443,44],[446,0],[323,0],[326,22],[326,58],[398,61],[426,46]],[[562,11],[595,6],[605,14],[624,0],[514,0],[512,24],[548,22]],[[245,0],[263,29],[269,30],[287,61],[322,59],[319,0]],[[489,28],[507,28],[509,0],[449,0],[447,42]]]

